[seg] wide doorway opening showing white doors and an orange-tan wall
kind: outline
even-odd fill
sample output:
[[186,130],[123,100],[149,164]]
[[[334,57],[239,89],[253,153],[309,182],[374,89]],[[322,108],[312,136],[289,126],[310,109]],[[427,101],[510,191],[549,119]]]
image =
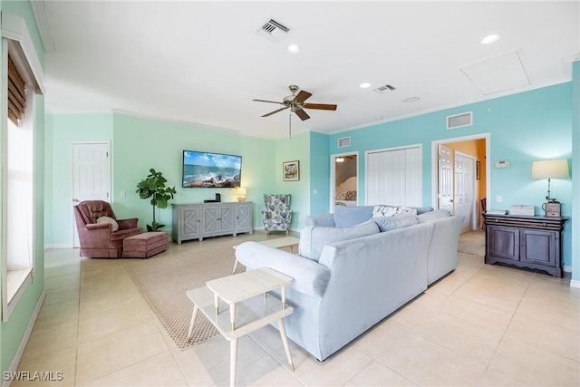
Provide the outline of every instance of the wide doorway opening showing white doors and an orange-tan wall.
[[431,142],[431,203],[465,217],[462,233],[483,224],[491,191],[489,149],[489,133]]

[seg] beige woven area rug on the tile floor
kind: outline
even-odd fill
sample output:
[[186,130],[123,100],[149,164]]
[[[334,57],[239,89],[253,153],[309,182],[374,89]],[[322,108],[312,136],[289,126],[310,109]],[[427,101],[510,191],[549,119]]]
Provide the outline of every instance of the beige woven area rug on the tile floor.
[[[231,276],[236,261],[233,244],[216,244],[211,248],[184,245],[149,259],[125,260],[124,266],[135,281],[153,314],[180,349],[202,343],[219,334],[205,315],[198,313],[191,340],[189,322],[193,304],[186,292],[206,282]],[[236,273],[245,271],[237,265]]]

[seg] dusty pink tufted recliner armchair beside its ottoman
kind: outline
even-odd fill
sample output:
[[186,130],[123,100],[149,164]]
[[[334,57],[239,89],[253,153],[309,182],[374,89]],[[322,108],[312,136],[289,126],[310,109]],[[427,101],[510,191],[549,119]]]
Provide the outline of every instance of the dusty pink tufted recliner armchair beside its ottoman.
[[[113,231],[113,224],[98,223],[97,219],[109,217],[119,225]],[[85,200],[74,206],[76,228],[81,242],[81,256],[95,258],[118,258],[122,256],[123,239],[143,232],[137,227],[137,218],[117,219],[111,205],[102,200]]]

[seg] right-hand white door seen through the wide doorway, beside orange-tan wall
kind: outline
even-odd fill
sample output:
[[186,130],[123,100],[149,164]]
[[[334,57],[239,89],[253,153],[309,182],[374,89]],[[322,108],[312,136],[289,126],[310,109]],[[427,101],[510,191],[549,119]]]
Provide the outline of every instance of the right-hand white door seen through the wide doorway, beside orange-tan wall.
[[465,218],[461,233],[474,229],[474,189],[473,169],[475,160],[472,156],[455,152],[455,213]]

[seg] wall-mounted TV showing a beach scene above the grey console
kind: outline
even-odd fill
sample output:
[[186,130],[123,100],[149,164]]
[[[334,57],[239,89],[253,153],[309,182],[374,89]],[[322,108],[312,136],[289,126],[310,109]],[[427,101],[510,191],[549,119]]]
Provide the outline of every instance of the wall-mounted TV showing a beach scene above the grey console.
[[184,188],[236,188],[241,175],[241,156],[183,150]]

